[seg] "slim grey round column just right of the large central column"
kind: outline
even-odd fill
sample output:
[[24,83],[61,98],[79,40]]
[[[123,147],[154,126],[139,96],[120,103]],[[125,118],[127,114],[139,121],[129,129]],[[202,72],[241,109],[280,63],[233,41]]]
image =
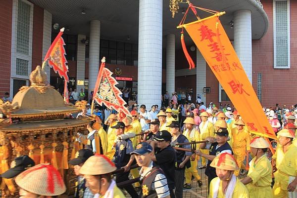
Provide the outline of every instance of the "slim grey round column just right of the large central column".
[[166,91],[175,91],[175,35],[166,37]]

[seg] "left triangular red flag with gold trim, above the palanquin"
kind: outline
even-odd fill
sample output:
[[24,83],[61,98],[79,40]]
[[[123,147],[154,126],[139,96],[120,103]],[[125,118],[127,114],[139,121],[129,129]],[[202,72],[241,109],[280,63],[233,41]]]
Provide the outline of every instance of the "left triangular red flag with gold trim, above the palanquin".
[[59,34],[51,43],[49,50],[45,56],[44,61],[48,61],[49,66],[52,67],[55,73],[58,73],[59,76],[64,78],[67,82],[69,82],[69,78],[67,75],[68,66],[66,65],[67,60],[65,58],[65,42],[62,38],[64,28],[62,28]]

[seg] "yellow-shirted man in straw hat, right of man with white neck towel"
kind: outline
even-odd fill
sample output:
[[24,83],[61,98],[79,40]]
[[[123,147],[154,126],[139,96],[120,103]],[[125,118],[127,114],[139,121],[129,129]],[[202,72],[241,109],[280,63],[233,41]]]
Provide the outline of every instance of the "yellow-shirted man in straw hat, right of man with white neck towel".
[[261,137],[250,142],[251,153],[255,156],[249,162],[247,177],[241,180],[251,198],[272,198],[272,166],[266,156],[269,143]]

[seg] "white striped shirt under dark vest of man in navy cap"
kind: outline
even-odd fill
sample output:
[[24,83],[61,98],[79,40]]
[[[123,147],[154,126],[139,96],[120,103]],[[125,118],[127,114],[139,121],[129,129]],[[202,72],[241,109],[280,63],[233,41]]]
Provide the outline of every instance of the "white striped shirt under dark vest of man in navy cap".
[[[148,172],[152,169],[152,161],[150,162],[148,168],[144,170],[142,167],[139,171],[140,173],[140,180],[143,180],[143,178],[148,174]],[[165,198],[170,195],[169,187],[167,184],[167,179],[164,174],[157,174],[154,178],[151,189],[156,191],[156,194],[158,198]]]

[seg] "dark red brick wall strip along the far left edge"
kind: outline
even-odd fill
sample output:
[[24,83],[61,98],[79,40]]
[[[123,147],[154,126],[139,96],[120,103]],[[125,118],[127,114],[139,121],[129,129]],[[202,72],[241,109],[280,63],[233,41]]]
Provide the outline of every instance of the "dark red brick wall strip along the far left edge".
[[0,98],[9,92],[11,59],[12,0],[1,0],[0,6]]

